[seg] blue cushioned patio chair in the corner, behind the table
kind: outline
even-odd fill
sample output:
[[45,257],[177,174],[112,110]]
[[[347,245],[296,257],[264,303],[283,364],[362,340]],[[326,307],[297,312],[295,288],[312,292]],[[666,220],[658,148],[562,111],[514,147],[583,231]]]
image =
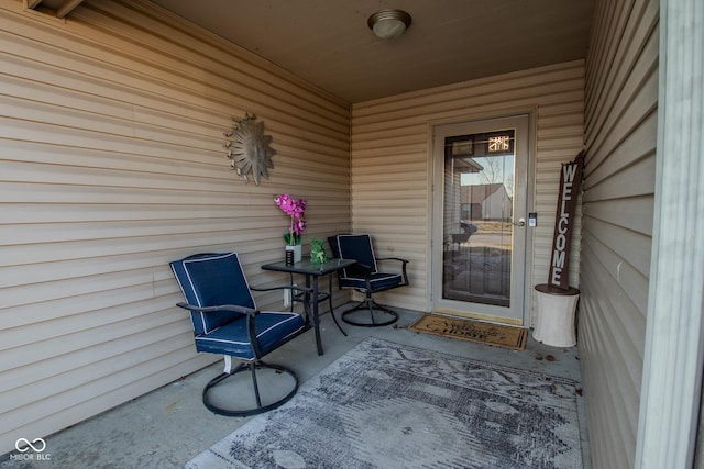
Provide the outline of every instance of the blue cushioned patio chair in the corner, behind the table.
[[[407,286],[406,264],[408,260],[398,257],[376,257],[372,246],[372,237],[369,234],[339,234],[328,238],[328,243],[334,257],[358,261],[338,273],[339,287],[353,289],[365,295],[364,300],[354,308],[342,313],[342,321],[364,327],[385,326],[398,321],[398,314],[395,311],[378,304],[372,295]],[[384,261],[384,265],[394,261],[397,271],[380,271],[378,261]],[[370,314],[369,320],[366,311]]]

